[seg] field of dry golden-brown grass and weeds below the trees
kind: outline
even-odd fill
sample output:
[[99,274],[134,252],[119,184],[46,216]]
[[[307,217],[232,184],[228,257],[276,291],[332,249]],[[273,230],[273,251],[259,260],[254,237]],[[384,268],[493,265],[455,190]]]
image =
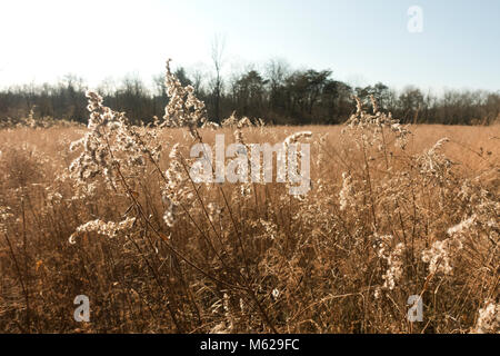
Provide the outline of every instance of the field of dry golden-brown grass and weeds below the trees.
[[[410,127],[401,148],[390,126],[354,118],[300,128],[313,188],[298,198],[183,170],[216,132],[274,144],[293,127],[1,130],[0,330],[498,332],[500,127]],[[102,147],[83,149],[99,165],[70,170],[70,142],[101,129]],[[73,320],[77,295],[90,323]]]

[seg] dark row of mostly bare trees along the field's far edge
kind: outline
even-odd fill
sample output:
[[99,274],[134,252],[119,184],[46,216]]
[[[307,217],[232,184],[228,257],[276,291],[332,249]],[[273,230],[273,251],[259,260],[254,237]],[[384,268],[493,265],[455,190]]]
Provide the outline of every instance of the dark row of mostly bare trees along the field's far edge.
[[[182,67],[176,71],[182,85],[194,87],[213,121],[236,111],[239,117],[261,118],[271,125],[336,125],[356,110],[353,96],[367,107],[373,96],[382,111],[392,112],[402,122],[489,125],[500,120],[500,91],[446,90],[438,96],[412,86],[397,91],[382,82],[352,87],[336,80],[331,70],[291,69],[280,60],[270,60],[261,70],[249,68],[223,77],[218,60],[214,53],[212,73]],[[6,88],[0,91],[0,120],[23,118],[33,110],[34,118],[86,122],[86,89],[84,81],[76,76],[54,85]],[[168,102],[162,75],[153,78],[153,86],[138,77],[126,77],[118,86],[102,82],[98,91],[107,106],[126,111],[136,122],[162,117]]]

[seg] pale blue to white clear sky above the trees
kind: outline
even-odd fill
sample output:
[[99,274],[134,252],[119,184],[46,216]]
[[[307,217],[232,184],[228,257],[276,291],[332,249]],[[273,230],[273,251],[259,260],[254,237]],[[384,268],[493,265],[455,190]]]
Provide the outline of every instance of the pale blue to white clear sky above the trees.
[[1,0],[0,87],[208,71],[216,36],[227,73],[281,58],[353,86],[500,90],[499,0]]

